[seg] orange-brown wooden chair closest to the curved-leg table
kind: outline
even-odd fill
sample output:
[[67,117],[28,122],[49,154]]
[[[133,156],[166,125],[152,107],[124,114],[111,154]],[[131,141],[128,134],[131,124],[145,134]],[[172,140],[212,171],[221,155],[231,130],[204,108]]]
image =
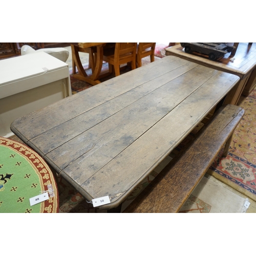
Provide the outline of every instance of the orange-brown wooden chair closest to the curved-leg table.
[[103,50],[103,61],[109,63],[109,71],[115,76],[120,75],[120,65],[131,62],[131,68],[136,69],[136,42],[116,42],[115,48]]

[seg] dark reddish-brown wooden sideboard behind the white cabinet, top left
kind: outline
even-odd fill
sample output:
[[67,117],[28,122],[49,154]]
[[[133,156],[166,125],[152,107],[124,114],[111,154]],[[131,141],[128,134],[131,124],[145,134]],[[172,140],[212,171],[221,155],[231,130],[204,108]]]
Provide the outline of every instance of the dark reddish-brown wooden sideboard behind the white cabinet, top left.
[[66,47],[68,42],[0,42],[0,59],[9,58],[20,55],[20,48],[29,45],[33,49]]

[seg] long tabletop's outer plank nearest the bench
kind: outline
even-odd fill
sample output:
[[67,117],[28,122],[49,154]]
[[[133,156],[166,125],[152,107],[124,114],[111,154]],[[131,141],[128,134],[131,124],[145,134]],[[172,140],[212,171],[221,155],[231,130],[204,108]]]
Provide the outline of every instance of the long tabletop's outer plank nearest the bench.
[[[150,174],[154,167],[209,113],[221,100],[223,94],[228,92],[238,80],[237,76],[218,72],[158,121],[157,125],[152,126],[81,184],[81,188],[86,190],[87,195],[91,195],[92,198],[109,195],[112,205],[119,204],[129,195],[129,191]],[[218,81],[222,86],[216,87]],[[191,116],[191,113],[194,115]],[[84,162],[86,161],[79,166],[80,170],[87,170],[83,167]],[[69,167],[73,169],[72,164]],[[74,179],[73,174],[72,171],[61,172],[66,179]],[[82,172],[81,175],[83,175]],[[121,197],[122,195],[125,196]]]

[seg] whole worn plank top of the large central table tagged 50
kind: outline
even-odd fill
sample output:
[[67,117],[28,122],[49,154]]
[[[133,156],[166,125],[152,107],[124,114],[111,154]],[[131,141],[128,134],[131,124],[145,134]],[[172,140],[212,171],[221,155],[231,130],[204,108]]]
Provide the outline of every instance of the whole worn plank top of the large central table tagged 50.
[[[88,201],[120,205],[239,81],[167,56],[40,111],[11,130]],[[202,149],[203,150],[203,149]]]

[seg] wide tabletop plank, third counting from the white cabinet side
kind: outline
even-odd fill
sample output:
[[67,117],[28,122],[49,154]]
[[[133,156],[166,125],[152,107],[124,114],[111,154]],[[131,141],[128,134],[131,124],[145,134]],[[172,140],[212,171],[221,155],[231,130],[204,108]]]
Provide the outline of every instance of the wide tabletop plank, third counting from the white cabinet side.
[[[218,73],[213,69],[208,70],[207,73],[202,73],[203,70],[205,70],[204,67],[197,66],[171,80],[166,75],[161,87],[59,146],[46,155],[47,159],[59,166],[60,170],[69,165],[70,168],[66,168],[65,172],[71,172],[72,178],[78,184],[83,183],[176,108],[180,102],[196,91],[209,78]],[[198,76],[197,74],[201,75]],[[158,81],[152,81],[152,84],[158,83]],[[184,84],[182,90],[181,83]],[[78,162],[79,165],[83,162],[85,164],[81,170],[77,171],[78,173],[74,167],[75,162]],[[83,172],[83,169],[86,169],[87,172]]]

